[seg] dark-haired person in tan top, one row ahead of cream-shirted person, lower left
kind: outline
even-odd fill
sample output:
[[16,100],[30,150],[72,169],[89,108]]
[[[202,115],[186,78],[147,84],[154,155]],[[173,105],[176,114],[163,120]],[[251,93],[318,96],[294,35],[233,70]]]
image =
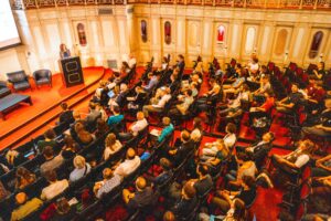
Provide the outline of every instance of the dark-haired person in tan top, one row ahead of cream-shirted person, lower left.
[[43,156],[45,158],[45,162],[40,166],[40,172],[42,176],[58,168],[64,162],[62,155],[54,156],[53,148],[50,146],[44,148]]

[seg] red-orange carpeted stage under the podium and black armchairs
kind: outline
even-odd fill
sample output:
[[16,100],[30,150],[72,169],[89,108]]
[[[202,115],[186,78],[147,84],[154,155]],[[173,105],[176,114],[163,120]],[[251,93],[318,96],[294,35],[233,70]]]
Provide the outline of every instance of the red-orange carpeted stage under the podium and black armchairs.
[[77,99],[84,97],[84,95],[86,96],[88,94],[87,88],[94,84],[98,84],[104,73],[104,67],[85,67],[83,69],[85,83],[72,87],[65,87],[61,74],[53,74],[52,87],[43,85],[38,88],[34,82],[31,81],[32,91],[25,90],[18,92],[18,94],[31,96],[33,105],[20,105],[6,115],[6,120],[0,119],[0,149],[8,147],[9,143],[14,141],[14,138],[11,138],[12,135],[18,137],[28,133],[31,129],[29,128],[29,124],[46,120],[46,115],[51,117],[60,113],[61,108],[58,105],[62,102],[71,104],[73,103],[72,98]]

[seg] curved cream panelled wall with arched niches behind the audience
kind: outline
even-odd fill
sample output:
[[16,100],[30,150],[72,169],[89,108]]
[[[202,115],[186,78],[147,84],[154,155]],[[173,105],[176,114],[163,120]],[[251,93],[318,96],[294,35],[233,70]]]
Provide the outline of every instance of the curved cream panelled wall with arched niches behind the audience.
[[[99,15],[98,9],[113,9],[113,14]],[[127,13],[134,8],[134,14]],[[60,7],[14,11],[22,46],[0,52],[0,78],[4,73],[38,69],[58,72],[58,45],[65,43],[72,53],[81,55],[83,66],[117,63],[134,53],[140,64],[154,56],[171,54],[173,61],[183,54],[189,65],[200,54],[205,64],[216,56],[222,64],[235,57],[246,62],[256,52],[263,63],[289,61],[308,66],[313,34],[323,32],[319,54],[331,66],[331,13],[305,10],[236,9],[201,6],[131,4]],[[140,22],[147,21],[148,41],[141,41]],[[171,42],[164,42],[164,22],[171,22]],[[81,46],[76,25],[85,25],[87,45]],[[224,25],[224,42],[216,41],[217,28]],[[249,31],[248,31],[249,30]],[[287,36],[278,36],[286,30]],[[247,36],[250,33],[250,36]],[[282,53],[275,53],[278,39]],[[279,50],[278,50],[279,52]],[[288,53],[286,55],[286,53]]]

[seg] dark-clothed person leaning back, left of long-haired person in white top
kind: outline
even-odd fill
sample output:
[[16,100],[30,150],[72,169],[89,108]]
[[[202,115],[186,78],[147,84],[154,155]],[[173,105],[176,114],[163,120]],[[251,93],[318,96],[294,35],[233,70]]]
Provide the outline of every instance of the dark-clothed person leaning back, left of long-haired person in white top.
[[259,170],[264,162],[265,158],[268,156],[268,152],[273,146],[273,141],[275,139],[275,135],[271,131],[265,133],[261,137],[261,140],[250,145],[249,147],[237,147],[238,151],[244,151],[249,160],[253,160]]

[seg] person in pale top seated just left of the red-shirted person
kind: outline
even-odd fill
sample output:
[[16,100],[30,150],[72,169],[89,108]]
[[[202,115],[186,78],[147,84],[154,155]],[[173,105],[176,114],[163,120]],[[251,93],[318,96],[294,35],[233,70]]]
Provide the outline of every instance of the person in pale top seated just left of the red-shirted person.
[[249,101],[249,87],[247,84],[243,84],[238,90],[238,95],[235,99],[232,99],[226,104],[226,106],[221,107],[221,116],[235,117],[243,113],[242,101]]

